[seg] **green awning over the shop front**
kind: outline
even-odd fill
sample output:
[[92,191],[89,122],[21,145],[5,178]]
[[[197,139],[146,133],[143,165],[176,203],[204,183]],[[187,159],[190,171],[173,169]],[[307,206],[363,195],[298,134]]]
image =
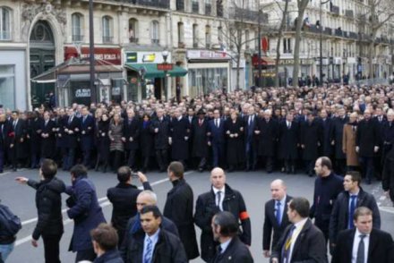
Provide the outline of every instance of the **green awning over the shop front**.
[[[129,68],[135,72],[140,72],[142,67],[145,67],[145,78],[146,79],[156,79],[156,78],[164,78],[164,72],[158,71],[158,64],[136,64],[136,63],[126,63],[124,64],[126,68]],[[168,71],[171,77],[184,77],[187,74],[187,71],[177,65],[174,65],[172,71]]]

